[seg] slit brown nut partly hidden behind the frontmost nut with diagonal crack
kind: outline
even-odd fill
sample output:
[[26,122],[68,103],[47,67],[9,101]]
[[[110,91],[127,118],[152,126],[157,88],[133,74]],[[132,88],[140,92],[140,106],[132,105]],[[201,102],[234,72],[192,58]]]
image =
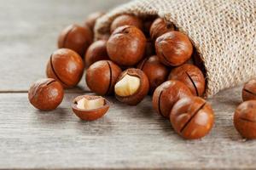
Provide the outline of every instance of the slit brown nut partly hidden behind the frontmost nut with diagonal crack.
[[169,80],[162,83],[154,90],[153,107],[161,116],[169,118],[172,106],[177,100],[191,96],[189,88],[176,80]]

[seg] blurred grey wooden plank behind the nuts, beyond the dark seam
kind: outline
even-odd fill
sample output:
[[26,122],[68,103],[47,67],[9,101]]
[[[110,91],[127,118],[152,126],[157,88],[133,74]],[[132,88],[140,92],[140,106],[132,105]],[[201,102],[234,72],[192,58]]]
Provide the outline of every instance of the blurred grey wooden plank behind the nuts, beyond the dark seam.
[[[128,0],[1,0],[0,91],[26,91],[45,77],[60,31]],[[84,87],[84,82],[81,83]]]

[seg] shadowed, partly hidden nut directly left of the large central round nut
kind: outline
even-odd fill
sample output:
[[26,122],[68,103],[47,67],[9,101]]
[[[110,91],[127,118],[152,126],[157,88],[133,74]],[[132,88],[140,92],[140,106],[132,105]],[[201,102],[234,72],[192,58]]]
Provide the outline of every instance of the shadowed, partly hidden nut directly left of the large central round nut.
[[84,56],[84,62],[86,67],[89,67],[96,61],[106,59],[109,59],[109,57],[107,52],[107,41],[105,40],[93,42],[87,49],[87,52]]

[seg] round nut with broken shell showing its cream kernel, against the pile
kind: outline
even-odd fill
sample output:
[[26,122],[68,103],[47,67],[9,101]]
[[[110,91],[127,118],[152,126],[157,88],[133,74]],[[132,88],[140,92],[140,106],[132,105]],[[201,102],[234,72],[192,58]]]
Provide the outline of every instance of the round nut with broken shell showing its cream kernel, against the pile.
[[148,94],[148,77],[139,69],[122,72],[114,86],[116,99],[127,105],[137,105]]

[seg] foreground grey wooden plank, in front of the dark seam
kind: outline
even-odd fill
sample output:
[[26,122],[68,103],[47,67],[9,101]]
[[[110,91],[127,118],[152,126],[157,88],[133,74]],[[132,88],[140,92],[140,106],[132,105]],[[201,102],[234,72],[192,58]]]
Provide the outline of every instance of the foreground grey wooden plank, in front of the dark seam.
[[245,141],[232,123],[241,88],[210,102],[216,122],[204,139],[183,140],[153,111],[148,97],[131,107],[113,105],[96,122],[73,115],[66,94],[59,109],[40,112],[27,94],[0,94],[0,168],[249,168],[256,141]]

